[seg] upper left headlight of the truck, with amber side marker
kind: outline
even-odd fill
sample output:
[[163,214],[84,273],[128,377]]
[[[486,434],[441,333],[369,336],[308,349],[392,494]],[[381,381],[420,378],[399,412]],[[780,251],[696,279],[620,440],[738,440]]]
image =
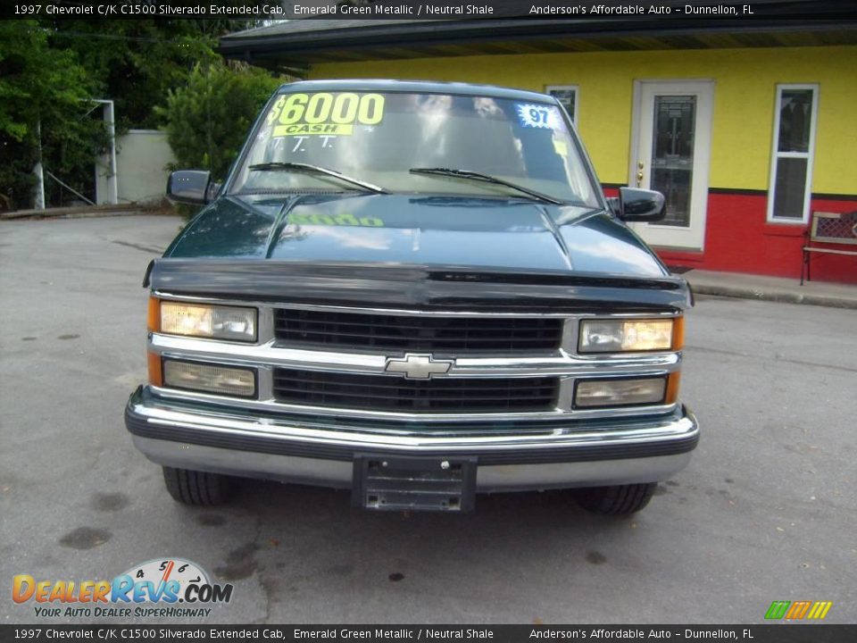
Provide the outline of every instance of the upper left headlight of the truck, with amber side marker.
[[[160,314],[152,314],[156,328],[169,335],[189,335],[235,341],[255,341],[256,309],[237,306],[182,304],[153,299],[160,304]],[[151,328],[152,321],[150,321]]]

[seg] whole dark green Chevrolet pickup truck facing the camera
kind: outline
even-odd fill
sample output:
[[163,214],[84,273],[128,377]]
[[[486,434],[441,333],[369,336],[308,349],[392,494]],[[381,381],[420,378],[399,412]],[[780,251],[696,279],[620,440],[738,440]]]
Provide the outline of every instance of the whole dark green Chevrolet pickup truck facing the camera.
[[467,511],[571,489],[642,509],[699,429],[678,401],[685,280],[605,198],[554,98],[462,84],[304,81],[271,97],[222,185],[146,272],[134,444],[176,500],[231,476]]

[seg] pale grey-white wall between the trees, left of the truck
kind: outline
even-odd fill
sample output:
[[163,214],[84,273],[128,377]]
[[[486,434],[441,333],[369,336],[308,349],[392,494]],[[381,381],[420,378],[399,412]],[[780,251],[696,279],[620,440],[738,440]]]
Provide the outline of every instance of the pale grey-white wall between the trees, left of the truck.
[[[174,163],[167,135],[157,129],[129,129],[116,138],[116,174],[119,179],[119,203],[157,201],[167,188],[165,170]],[[96,163],[96,201],[108,203],[107,159]]]

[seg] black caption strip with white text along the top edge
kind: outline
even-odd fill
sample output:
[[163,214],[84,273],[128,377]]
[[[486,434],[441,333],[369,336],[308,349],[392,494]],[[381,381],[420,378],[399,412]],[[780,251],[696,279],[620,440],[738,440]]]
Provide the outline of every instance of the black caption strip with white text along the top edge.
[[836,0],[4,0],[0,18],[405,20],[532,18],[753,18],[857,20],[857,3]]

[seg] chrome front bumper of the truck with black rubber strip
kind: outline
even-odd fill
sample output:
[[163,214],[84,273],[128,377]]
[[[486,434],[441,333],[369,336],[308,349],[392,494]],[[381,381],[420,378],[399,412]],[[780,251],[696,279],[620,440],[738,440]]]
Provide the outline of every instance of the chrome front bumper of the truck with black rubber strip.
[[[347,421],[346,421],[347,422]],[[693,413],[534,422],[519,430],[374,429],[335,418],[187,404],[140,387],[125,423],[154,463],[348,488],[355,455],[474,457],[478,491],[562,489],[667,480],[699,439]]]

